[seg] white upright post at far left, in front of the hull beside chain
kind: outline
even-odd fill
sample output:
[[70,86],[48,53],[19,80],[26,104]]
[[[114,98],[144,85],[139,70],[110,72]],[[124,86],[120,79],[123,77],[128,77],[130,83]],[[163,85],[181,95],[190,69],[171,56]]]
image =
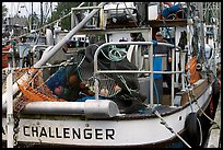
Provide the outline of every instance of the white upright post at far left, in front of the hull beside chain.
[[[13,69],[12,69],[13,70]],[[12,93],[12,79],[13,79],[13,71],[9,73],[7,77],[7,147],[13,148],[14,140],[13,140],[13,128],[14,128],[14,119],[13,119],[13,93]]]

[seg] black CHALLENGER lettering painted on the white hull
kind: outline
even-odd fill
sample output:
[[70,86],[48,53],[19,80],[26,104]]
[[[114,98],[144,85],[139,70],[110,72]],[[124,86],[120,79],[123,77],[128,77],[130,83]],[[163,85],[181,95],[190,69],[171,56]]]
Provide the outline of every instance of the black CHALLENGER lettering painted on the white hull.
[[[31,127],[23,126],[21,130],[25,137],[45,137],[57,139],[96,139],[96,140],[115,140],[115,129],[102,128],[58,128],[58,127]],[[2,134],[5,135],[2,128]]]

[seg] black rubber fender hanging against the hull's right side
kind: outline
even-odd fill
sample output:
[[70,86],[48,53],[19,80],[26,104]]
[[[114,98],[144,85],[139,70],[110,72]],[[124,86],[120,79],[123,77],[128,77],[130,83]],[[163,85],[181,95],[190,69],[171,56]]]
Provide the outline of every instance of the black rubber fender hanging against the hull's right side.
[[199,147],[201,143],[201,124],[197,113],[190,113],[185,122],[186,135],[191,147]]

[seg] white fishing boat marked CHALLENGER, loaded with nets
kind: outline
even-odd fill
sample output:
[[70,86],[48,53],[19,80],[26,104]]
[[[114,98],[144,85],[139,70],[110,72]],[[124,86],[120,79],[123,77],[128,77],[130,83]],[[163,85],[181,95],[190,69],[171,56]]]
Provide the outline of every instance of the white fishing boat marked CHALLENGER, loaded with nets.
[[[149,3],[138,7],[153,10]],[[181,10],[171,7],[174,12]],[[219,102],[220,81],[214,72],[215,49],[209,48],[207,56],[202,55],[206,50],[200,48],[204,46],[202,39],[199,39],[200,47],[197,43],[198,49],[191,48],[197,30],[195,20],[189,16],[164,20],[169,14],[173,19],[174,13],[164,11],[163,20],[136,22],[137,7],[125,2],[102,2],[87,9],[92,11],[58,44],[45,50],[33,67],[9,69],[8,86],[2,94],[4,143],[8,147],[15,143],[20,147],[172,148],[181,142],[184,147],[201,147],[204,120],[212,122]],[[83,28],[95,14],[102,19],[99,28]],[[171,32],[166,26],[175,28],[175,43],[152,41],[160,27]],[[47,61],[68,39],[77,33],[96,32],[105,33],[106,42],[73,51],[70,60],[47,73],[52,67]],[[141,33],[145,41],[132,42],[130,33]],[[184,48],[177,45],[179,42],[185,44]],[[164,67],[166,55],[154,55],[159,45],[172,49],[171,71]],[[163,82],[165,73],[171,74],[171,93]]]

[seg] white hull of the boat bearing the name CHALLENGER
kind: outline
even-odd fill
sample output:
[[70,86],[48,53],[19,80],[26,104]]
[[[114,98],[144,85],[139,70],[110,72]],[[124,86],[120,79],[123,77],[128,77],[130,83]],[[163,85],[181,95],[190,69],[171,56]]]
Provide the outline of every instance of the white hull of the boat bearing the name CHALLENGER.
[[[209,102],[212,88],[197,100],[199,106]],[[199,111],[195,102],[193,112]],[[166,124],[175,132],[185,128],[187,115],[191,113],[190,105],[176,108],[175,113],[162,115]],[[129,117],[128,117],[129,116]],[[140,116],[138,114],[138,116]],[[143,114],[141,114],[143,116]],[[80,119],[80,116],[51,116],[44,115],[33,118],[20,118],[19,140],[23,142],[59,143],[69,146],[143,146],[173,139],[172,134],[156,116],[136,117],[132,115],[117,116],[110,119]],[[174,120],[174,122],[173,122]],[[2,118],[2,139],[7,140],[7,119]]]

